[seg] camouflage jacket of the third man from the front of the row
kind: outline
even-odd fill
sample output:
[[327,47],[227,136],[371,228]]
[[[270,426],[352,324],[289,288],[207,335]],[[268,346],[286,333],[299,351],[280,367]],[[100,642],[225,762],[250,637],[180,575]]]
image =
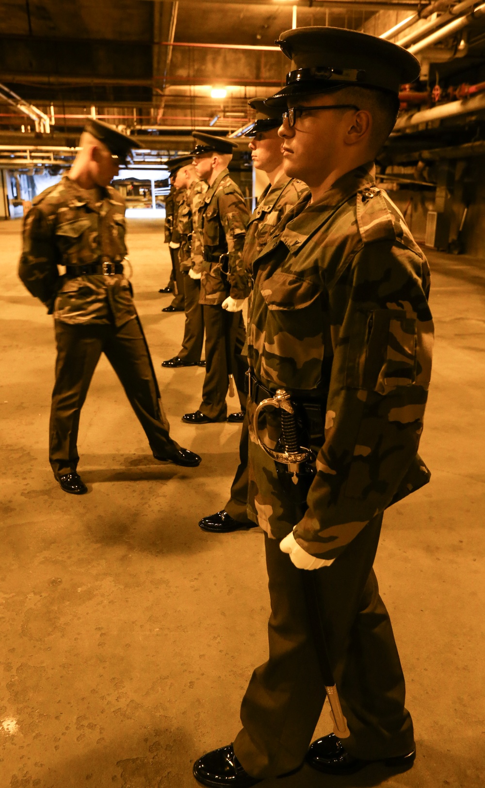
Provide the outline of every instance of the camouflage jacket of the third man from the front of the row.
[[[205,192],[198,216],[204,247],[200,303],[214,305],[228,296],[249,296],[250,277],[242,263],[249,218],[239,187],[223,169]],[[225,262],[221,255],[227,255]]]

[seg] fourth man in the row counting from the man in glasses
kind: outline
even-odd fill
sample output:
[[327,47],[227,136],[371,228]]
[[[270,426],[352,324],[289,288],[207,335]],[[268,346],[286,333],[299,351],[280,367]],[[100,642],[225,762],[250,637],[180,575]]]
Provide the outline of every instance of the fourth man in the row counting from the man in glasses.
[[202,206],[207,184],[200,180],[192,156],[180,156],[170,164],[180,162],[175,186],[183,189],[178,210],[177,230],[180,236],[179,266],[183,277],[185,325],[182,348],[172,359],[161,366],[205,366],[202,359],[204,343],[204,316],[200,303],[201,272],[203,267],[202,242],[198,232],[198,210]]

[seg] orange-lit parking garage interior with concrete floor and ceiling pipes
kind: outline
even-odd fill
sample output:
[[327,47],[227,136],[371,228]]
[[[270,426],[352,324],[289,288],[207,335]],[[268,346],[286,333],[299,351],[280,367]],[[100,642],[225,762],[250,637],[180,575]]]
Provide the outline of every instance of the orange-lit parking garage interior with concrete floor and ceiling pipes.
[[[424,489],[386,515],[376,559],[407,678],[418,757],[329,777],[308,767],[268,788],[481,788],[485,783],[485,6],[415,0],[0,0],[0,786],[186,788],[194,760],[239,730],[267,653],[262,533],[204,533],[238,464],[230,423],[180,421],[204,370],[165,370],[183,314],[162,314],[169,161],[192,132],[238,143],[231,177],[250,210],[248,100],[284,83],[281,32],[350,28],[405,46],[420,80],[376,160],[431,266],[435,360],[420,454]],[[47,460],[54,333],[17,277],[23,217],[76,157],[94,118],[139,148],[126,199],[135,303],[172,434],[202,455],[160,466],[106,359],[80,428],[88,495]],[[236,411],[235,400],[228,400]],[[331,730],[325,707],[316,735]]]

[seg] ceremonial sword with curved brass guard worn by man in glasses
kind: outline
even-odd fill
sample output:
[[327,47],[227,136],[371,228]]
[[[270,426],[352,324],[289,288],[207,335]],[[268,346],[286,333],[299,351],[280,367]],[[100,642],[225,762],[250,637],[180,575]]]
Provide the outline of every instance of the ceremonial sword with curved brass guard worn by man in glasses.
[[[267,407],[276,407],[281,411],[281,434],[284,446],[284,452],[278,452],[267,446],[259,436],[257,420],[261,411],[265,411]],[[287,466],[287,472],[291,474],[291,481],[294,485],[298,485],[301,481],[299,478],[300,466],[302,463],[308,463],[314,459],[313,452],[309,448],[300,446],[298,440],[298,426],[296,422],[296,414],[294,412],[293,404],[291,403],[291,396],[283,388],[279,388],[275,396],[262,400],[257,405],[253,417],[254,433],[257,437],[257,442],[264,452],[270,456],[276,463],[282,463]],[[308,477],[308,473],[305,474]],[[302,512],[303,514],[303,512]],[[313,642],[317,651],[317,659],[320,667],[320,673],[324,681],[325,692],[327,693],[328,702],[330,704],[331,712],[330,718],[333,723],[333,732],[338,738],[347,738],[350,736],[350,730],[347,727],[347,721],[342,712],[340,705],[339,693],[335,685],[335,678],[331,670],[330,660],[328,659],[328,649],[325,642],[324,626],[322,623],[320,608],[318,606],[318,589],[316,578],[312,571],[301,569],[303,593],[305,595],[306,609],[309,615],[310,629],[312,630]]]

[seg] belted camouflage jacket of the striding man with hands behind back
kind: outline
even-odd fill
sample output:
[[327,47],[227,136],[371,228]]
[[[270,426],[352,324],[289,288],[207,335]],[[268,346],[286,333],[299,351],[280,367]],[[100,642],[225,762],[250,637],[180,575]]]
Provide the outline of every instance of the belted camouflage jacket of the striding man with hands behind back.
[[123,325],[136,315],[124,274],[68,278],[57,266],[121,262],[127,251],[124,233],[123,197],[108,186],[94,203],[66,175],[35,197],[24,219],[20,279],[61,322]]

